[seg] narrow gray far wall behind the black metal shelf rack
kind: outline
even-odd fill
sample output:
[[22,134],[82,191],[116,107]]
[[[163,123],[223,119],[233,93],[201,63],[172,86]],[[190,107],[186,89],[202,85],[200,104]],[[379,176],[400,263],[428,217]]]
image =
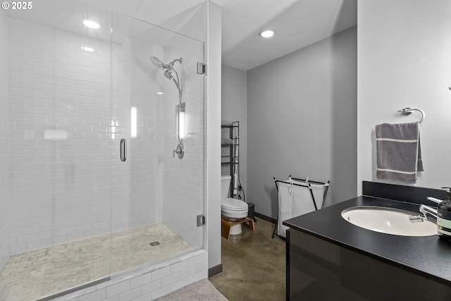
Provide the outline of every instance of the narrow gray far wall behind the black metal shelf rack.
[[[240,121],[240,183],[247,193],[247,72],[223,65],[221,78],[221,118]],[[222,173],[230,173],[229,166]]]

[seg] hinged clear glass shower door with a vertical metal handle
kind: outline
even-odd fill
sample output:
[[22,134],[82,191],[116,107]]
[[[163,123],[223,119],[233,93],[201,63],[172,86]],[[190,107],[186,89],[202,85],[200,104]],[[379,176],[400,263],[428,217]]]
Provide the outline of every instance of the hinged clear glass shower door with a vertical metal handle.
[[[113,13],[112,20],[116,274],[203,246],[204,227],[197,227],[196,216],[204,213],[204,76],[196,71],[197,62],[204,61],[204,44],[120,14]],[[179,119],[184,121],[182,159],[173,152],[180,102],[185,103]]]

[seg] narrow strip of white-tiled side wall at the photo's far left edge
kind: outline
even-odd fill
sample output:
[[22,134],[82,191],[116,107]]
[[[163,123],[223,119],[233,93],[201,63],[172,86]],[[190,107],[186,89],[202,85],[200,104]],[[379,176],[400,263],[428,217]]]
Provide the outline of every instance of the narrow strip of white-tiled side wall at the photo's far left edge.
[[0,271],[9,256],[8,232],[8,22],[0,11]]

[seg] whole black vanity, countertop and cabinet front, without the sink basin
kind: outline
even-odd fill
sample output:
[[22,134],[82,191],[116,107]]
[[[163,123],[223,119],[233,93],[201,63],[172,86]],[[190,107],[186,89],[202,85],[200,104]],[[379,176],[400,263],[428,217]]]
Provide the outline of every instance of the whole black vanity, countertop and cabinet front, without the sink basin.
[[412,202],[362,196],[284,221],[287,300],[451,300],[450,242],[369,231],[341,216],[359,206],[416,212],[425,195],[445,196],[417,192],[407,191],[420,195]]

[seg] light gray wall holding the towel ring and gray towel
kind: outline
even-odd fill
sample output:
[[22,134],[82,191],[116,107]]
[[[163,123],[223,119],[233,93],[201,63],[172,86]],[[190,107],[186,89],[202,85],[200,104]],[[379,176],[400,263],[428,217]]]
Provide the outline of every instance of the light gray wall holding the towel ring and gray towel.
[[358,9],[359,183],[377,181],[375,125],[419,121],[419,112],[397,113],[411,107],[426,113],[415,185],[450,186],[451,1],[359,1]]

